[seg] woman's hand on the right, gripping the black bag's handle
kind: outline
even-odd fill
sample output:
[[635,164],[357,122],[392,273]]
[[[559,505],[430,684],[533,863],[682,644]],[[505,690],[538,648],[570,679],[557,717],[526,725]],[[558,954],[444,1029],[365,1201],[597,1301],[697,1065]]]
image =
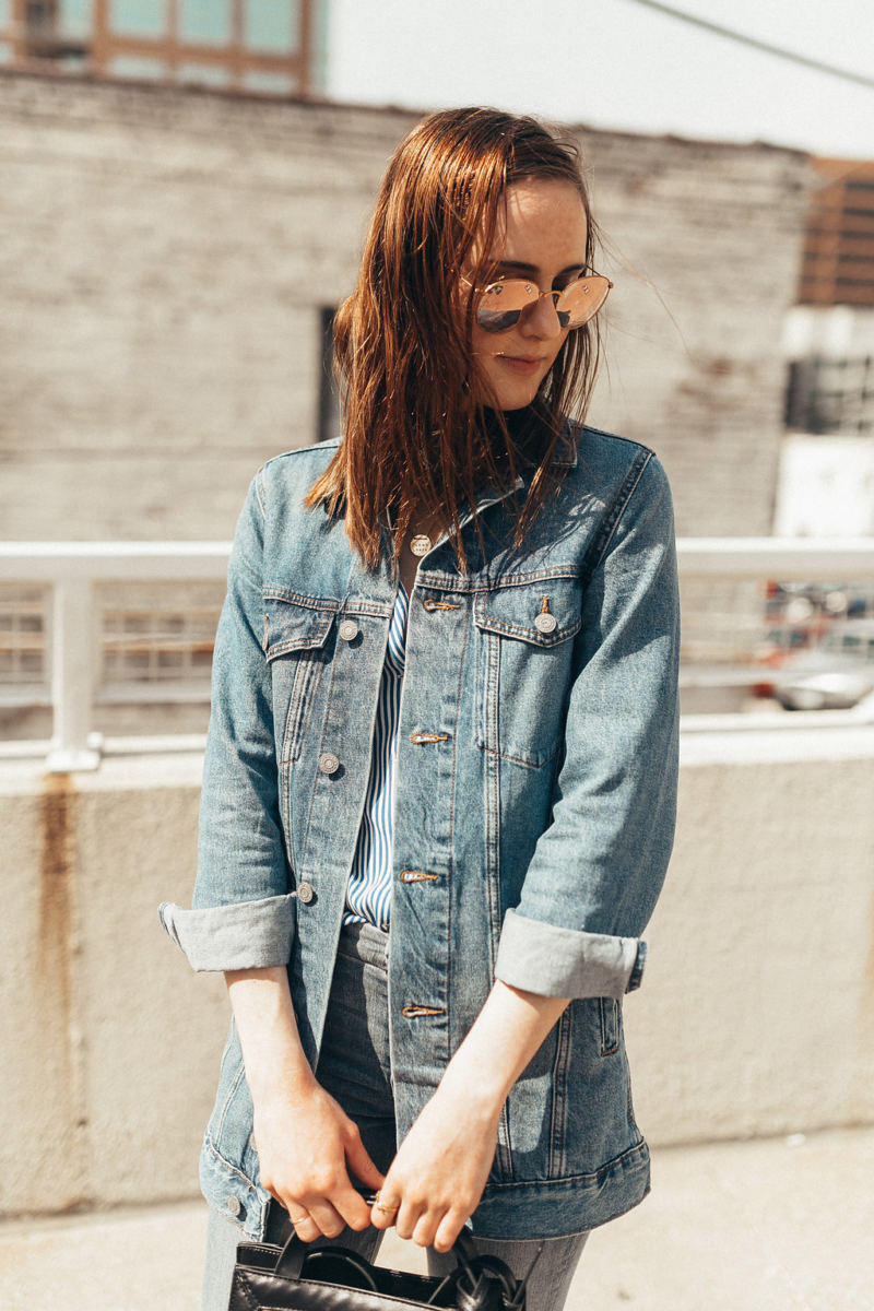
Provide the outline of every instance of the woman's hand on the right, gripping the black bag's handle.
[[401,1143],[371,1223],[448,1252],[486,1186],[502,1101],[477,1104],[469,1089],[440,1084]]

